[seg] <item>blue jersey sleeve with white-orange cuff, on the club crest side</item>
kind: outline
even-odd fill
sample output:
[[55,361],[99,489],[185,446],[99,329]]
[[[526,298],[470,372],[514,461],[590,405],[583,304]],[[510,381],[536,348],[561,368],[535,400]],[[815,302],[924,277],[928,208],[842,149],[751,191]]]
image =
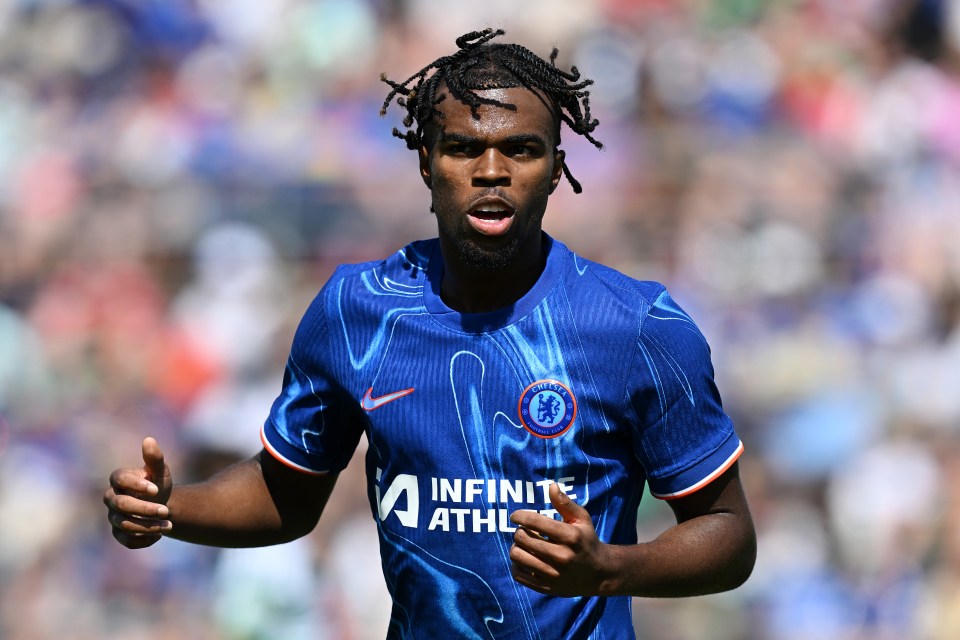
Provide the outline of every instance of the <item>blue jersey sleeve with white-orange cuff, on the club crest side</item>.
[[634,454],[651,493],[679,498],[706,486],[743,451],[714,381],[710,347],[664,291],[640,325],[628,389]]

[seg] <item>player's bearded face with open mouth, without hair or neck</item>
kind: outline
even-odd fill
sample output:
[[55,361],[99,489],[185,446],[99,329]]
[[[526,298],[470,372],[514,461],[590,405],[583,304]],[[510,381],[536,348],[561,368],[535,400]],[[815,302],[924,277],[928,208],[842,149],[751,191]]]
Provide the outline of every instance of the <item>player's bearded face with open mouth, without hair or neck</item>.
[[516,110],[483,105],[475,119],[449,94],[437,106],[443,117],[427,131],[432,145],[420,150],[420,173],[432,192],[441,242],[456,252],[448,259],[474,269],[539,261],[547,198],[562,172],[555,120],[528,89],[475,93]]

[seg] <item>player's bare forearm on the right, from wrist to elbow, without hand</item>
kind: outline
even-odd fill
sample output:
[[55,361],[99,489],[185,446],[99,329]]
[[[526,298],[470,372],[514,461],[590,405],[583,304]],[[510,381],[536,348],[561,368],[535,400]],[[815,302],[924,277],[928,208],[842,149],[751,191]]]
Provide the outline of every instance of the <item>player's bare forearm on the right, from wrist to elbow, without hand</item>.
[[756,539],[748,518],[711,513],[650,542],[607,545],[605,555],[601,595],[698,596],[743,584],[753,570]]

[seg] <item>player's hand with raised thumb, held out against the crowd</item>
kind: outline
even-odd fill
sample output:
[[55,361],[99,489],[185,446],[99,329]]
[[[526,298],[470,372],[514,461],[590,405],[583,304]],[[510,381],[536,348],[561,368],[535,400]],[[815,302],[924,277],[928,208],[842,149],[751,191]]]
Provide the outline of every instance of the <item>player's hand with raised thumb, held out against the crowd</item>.
[[115,469],[103,495],[113,537],[129,549],[149,547],[173,529],[167,500],[173,490],[170,468],[154,438],[143,440],[143,467]]

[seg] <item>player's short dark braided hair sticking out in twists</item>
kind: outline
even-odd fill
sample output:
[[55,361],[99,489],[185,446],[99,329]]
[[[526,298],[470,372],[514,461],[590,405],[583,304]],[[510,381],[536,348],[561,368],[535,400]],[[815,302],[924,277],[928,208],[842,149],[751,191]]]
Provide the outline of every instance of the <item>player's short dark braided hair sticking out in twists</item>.
[[[380,79],[390,85],[380,115],[386,115],[391,101],[407,110],[403,119],[405,132],[393,130],[393,135],[407,143],[414,151],[424,144],[424,126],[440,116],[436,105],[446,98],[445,93],[437,95],[437,89],[444,85],[454,99],[470,107],[474,118],[479,118],[477,109],[481,105],[495,105],[503,109],[516,110],[516,106],[497,100],[478,96],[475,91],[484,89],[505,89],[525,87],[546,96],[551,111],[557,120],[556,138],[560,144],[560,123],[589,140],[598,149],[603,144],[593,137],[593,130],[600,124],[590,116],[590,92],[587,87],[593,80],[581,80],[580,71],[570,67],[563,71],[556,65],[559,51],[554,48],[550,60],[544,60],[526,47],[517,44],[487,44],[493,38],[503,35],[502,29],[484,29],[473,31],[457,38],[458,50],[438,58],[420,69],[404,82],[394,82],[382,74]],[[432,75],[429,75],[433,71]],[[416,125],[416,127],[414,127]],[[563,163],[563,175],[567,177],[574,193],[583,188],[574,179]]]

